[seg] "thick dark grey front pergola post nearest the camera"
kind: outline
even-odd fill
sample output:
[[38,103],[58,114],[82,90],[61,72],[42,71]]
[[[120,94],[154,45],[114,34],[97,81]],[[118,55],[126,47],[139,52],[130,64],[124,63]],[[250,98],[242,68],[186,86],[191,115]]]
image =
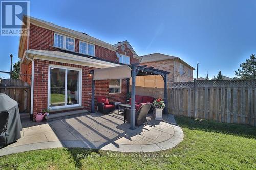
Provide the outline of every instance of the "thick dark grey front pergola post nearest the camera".
[[131,126],[130,129],[135,129],[135,80],[136,80],[136,65],[132,65],[132,106],[131,106]]

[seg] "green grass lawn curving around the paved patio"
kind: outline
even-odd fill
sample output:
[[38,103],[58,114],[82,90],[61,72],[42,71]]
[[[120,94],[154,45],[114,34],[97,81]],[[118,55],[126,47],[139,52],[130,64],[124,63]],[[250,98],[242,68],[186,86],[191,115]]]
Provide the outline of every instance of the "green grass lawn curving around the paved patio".
[[176,117],[175,148],[129,154],[80,148],[28,151],[0,158],[0,169],[255,169],[256,128]]

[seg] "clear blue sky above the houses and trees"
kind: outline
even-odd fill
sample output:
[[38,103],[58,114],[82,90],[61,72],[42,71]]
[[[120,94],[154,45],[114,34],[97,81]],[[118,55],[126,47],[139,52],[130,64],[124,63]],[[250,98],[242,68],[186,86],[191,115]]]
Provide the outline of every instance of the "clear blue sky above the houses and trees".
[[[199,77],[234,77],[256,53],[256,1],[31,1],[31,16],[115,44],[128,40],[138,55],[178,56]],[[0,70],[18,61],[19,37],[0,36]],[[9,77],[9,75],[0,74]],[[194,71],[194,78],[196,70]]]

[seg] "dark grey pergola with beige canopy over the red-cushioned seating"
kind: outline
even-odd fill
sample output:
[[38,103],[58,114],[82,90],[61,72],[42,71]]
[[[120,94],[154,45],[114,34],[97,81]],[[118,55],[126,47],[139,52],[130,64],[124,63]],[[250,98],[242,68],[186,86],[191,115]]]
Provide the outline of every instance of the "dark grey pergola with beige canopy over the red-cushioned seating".
[[130,129],[135,129],[135,81],[136,76],[147,76],[147,75],[161,75],[164,80],[164,103],[165,109],[164,113],[168,114],[168,99],[167,99],[167,74],[169,72],[159,70],[154,67],[147,67],[147,65],[121,65],[110,68],[102,68],[91,70],[90,73],[93,75],[92,80],[92,103],[91,103],[91,112],[94,113],[94,104],[95,104],[95,81],[96,80],[109,80],[109,79],[126,79],[127,81],[132,78],[132,91],[131,91],[131,127]]

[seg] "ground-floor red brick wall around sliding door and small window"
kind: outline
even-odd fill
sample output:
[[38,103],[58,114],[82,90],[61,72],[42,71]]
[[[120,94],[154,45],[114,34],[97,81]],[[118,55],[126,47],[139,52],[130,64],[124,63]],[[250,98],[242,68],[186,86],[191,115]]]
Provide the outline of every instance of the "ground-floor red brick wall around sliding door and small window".
[[[43,109],[47,108],[49,64],[82,68],[82,106],[86,110],[91,110],[91,95],[89,95],[88,93],[92,92],[92,77],[89,76],[89,71],[96,68],[52,61],[44,61],[38,59],[35,59],[34,63],[34,115],[41,112]],[[122,103],[125,103],[126,80],[122,80],[121,94],[109,94],[109,80],[96,81],[95,97],[100,95],[107,96],[109,98],[109,101],[120,101]]]

